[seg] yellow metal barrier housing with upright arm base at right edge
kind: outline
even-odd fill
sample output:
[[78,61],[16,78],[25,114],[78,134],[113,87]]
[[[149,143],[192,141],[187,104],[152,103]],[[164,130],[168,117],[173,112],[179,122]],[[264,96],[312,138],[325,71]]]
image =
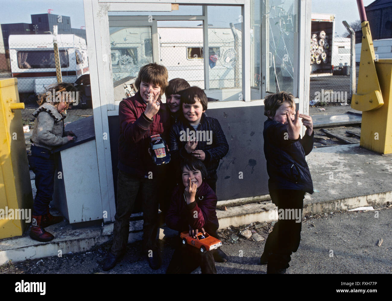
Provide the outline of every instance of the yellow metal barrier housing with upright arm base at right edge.
[[362,24],[357,93],[351,107],[362,111],[360,145],[377,153],[392,153],[392,59],[374,53],[369,22]]

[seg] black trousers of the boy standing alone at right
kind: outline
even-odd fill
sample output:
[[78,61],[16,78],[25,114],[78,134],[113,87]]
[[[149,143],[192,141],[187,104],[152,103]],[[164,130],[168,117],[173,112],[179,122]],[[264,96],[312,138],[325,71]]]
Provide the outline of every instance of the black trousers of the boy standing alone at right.
[[[283,218],[279,215],[278,222],[275,223],[274,229],[265,242],[264,253],[270,254],[268,259],[269,266],[275,269],[287,269],[291,260],[291,254],[298,250],[301,240],[301,214],[305,191],[292,189],[271,190],[270,196],[272,202],[278,206],[278,213],[281,213],[281,209],[283,209],[285,213],[290,212],[291,218],[287,214],[284,214]],[[295,215],[292,216],[293,212],[297,212],[299,222]]]

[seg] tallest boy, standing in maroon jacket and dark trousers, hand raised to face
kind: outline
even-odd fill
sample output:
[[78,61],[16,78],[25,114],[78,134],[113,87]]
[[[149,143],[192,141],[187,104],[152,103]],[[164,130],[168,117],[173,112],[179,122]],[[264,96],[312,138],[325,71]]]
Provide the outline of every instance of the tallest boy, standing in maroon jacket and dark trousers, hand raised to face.
[[151,63],[140,68],[138,92],[120,102],[120,136],[118,139],[117,204],[114,216],[113,246],[103,270],[110,270],[125,252],[129,236],[129,218],[138,193],[143,202],[143,249],[151,269],[159,269],[161,259],[156,245],[158,231],[158,197],[165,170],[156,166],[148,149],[152,135],[170,128],[169,113],[160,95],[167,87],[167,69]]

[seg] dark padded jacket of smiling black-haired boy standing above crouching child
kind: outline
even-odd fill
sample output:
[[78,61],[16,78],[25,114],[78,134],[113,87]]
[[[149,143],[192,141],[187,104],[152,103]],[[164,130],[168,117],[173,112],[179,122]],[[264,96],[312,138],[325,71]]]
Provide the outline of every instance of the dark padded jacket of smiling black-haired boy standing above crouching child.
[[[181,131],[187,133],[187,128],[189,129],[189,133],[191,133],[191,131],[195,132],[194,128],[183,116],[171,128],[169,149],[174,162],[179,162],[181,158],[191,156],[191,154],[188,154],[185,150],[187,141],[181,141],[180,139]],[[196,130],[205,132],[212,131],[212,143],[207,144],[207,141],[198,141],[196,150],[202,150],[205,153],[205,160],[203,163],[207,168],[207,178],[216,178],[216,169],[219,166],[219,161],[223,159],[229,151],[229,144],[227,144],[225,134],[223,133],[218,119],[207,117],[204,113],[201,115],[200,124]],[[183,135],[183,137],[185,136]]]

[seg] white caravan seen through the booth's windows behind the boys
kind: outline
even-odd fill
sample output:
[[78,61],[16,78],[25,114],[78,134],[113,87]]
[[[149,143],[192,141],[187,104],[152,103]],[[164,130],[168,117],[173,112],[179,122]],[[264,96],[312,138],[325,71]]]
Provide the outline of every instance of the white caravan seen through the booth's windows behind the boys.
[[[236,37],[234,37],[234,34]],[[209,28],[210,88],[241,87],[241,31]],[[147,37],[147,38],[146,38]],[[190,85],[205,88],[203,28],[158,27],[160,63],[172,78],[184,78]],[[136,76],[140,67],[152,62],[152,42],[140,28],[111,31],[113,80]]]

